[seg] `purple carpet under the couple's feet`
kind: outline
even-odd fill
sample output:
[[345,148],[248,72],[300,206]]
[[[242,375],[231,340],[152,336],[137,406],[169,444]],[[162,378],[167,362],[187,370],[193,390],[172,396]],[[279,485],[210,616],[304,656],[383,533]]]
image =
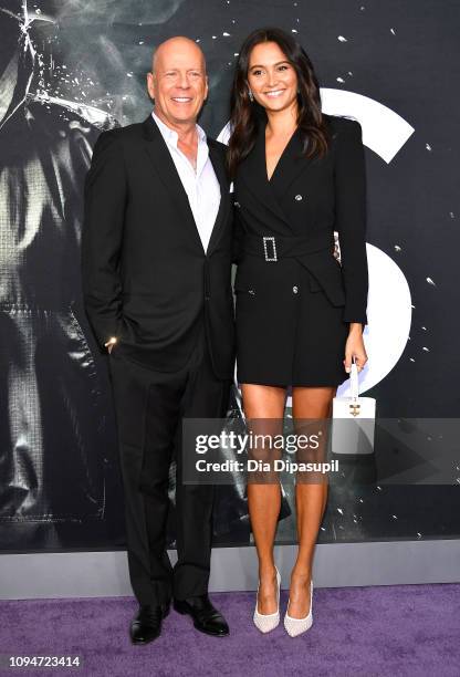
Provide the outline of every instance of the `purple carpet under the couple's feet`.
[[[8,670],[20,675],[155,677],[232,675],[334,677],[460,675],[460,585],[315,590],[313,627],[292,639],[252,625],[253,593],[211,595],[231,636],[213,638],[174,611],[145,647],[127,635],[134,600],[45,600],[0,604],[0,654],[82,657],[81,669]],[[286,593],[282,594],[282,612]]]

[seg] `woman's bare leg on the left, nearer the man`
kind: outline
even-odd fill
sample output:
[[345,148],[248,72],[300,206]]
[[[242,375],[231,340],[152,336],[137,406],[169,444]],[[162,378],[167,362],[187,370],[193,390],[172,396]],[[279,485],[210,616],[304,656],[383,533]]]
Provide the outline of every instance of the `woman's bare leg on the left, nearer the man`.
[[[285,388],[243,384],[241,393],[247,420],[263,419],[258,428],[260,433],[281,434]],[[266,419],[275,419],[273,426],[270,426]],[[280,429],[274,430],[274,428]],[[260,614],[274,614],[276,611],[276,572],[273,543],[281,508],[280,485],[275,481],[261,485],[248,481],[248,508],[259,558],[258,610]]]

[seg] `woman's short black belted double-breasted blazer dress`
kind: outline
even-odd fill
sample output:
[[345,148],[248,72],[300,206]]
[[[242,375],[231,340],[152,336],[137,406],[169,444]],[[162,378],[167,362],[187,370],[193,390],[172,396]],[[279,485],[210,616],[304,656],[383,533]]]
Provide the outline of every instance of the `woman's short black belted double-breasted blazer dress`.
[[305,158],[296,131],[269,180],[261,123],[237,171],[239,383],[337,386],[348,377],[348,323],[367,324],[362,128],[324,118],[331,143],[323,158]]

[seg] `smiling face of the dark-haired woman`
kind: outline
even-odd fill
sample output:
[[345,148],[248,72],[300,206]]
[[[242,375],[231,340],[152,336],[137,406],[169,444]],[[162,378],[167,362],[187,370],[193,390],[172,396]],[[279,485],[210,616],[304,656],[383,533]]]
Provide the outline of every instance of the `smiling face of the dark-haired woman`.
[[249,58],[248,84],[266,111],[284,111],[296,103],[297,74],[275,42],[257,44]]

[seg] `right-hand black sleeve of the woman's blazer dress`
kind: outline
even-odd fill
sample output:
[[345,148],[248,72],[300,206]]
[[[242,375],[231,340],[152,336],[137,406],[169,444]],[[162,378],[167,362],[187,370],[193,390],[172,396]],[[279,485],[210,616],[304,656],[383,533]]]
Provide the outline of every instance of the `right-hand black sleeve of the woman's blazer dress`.
[[368,292],[366,168],[362,127],[354,121],[346,121],[336,136],[335,228],[345,287],[343,320],[365,325]]

